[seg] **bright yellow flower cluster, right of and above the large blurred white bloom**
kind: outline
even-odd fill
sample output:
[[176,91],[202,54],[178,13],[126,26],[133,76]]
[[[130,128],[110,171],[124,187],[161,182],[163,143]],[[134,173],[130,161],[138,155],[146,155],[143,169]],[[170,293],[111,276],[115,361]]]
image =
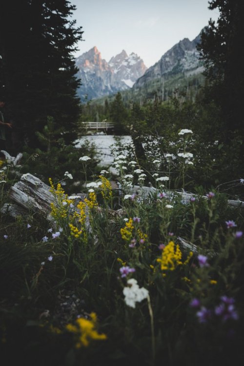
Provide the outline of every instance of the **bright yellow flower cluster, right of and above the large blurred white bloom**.
[[178,244],[169,242],[162,251],[162,257],[157,259],[157,262],[161,264],[161,270],[173,271],[178,265],[187,264],[192,257],[193,253],[190,252],[186,261],[182,262],[182,252]]

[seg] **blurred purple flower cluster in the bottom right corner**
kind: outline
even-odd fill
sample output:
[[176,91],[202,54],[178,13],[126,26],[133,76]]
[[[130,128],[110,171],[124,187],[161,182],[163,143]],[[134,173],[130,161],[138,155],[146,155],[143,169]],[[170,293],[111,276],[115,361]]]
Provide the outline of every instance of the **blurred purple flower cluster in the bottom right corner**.
[[235,309],[235,300],[232,297],[221,296],[221,302],[219,305],[215,306],[214,310],[207,309],[205,306],[201,306],[199,299],[194,298],[190,302],[190,306],[198,309],[196,316],[199,323],[206,323],[209,319],[212,319],[216,315],[223,322],[228,319],[238,320],[239,316]]

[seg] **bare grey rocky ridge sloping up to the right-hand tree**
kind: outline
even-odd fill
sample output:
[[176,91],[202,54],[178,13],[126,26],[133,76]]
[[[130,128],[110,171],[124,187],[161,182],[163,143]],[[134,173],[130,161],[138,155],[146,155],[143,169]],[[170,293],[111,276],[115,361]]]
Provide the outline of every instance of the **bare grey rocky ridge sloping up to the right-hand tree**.
[[203,64],[199,60],[200,55],[196,48],[201,40],[200,34],[193,41],[184,38],[175,44],[158,62],[146,70],[134,84],[133,90],[136,91],[156,80],[162,83],[179,74],[190,76],[202,73]]

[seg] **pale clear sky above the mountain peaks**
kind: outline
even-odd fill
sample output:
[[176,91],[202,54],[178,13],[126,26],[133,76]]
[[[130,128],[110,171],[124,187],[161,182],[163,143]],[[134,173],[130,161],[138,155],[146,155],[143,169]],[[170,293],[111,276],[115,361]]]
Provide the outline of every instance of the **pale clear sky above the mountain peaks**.
[[109,61],[124,49],[147,67],[183,38],[192,41],[210,18],[219,16],[217,9],[208,9],[208,0],[69,1],[77,7],[73,19],[84,32],[75,57],[96,46]]

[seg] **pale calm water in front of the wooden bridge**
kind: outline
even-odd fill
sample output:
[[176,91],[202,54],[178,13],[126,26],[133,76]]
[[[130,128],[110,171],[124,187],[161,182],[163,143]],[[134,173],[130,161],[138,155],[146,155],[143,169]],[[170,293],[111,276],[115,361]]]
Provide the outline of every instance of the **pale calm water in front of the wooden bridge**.
[[[80,139],[76,140],[76,147],[80,147],[84,144],[85,141],[89,141],[94,143],[97,154],[96,156],[101,160],[100,165],[102,166],[110,166],[114,161],[114,156],[112,154],[112,145],[115,144],[116,139],[119,139],[123,145],[128,145],[132,143],[130,136],[113,136],[113,135],[89,135],[83,136]],[[123,154],[123,152],[121,152]]]

